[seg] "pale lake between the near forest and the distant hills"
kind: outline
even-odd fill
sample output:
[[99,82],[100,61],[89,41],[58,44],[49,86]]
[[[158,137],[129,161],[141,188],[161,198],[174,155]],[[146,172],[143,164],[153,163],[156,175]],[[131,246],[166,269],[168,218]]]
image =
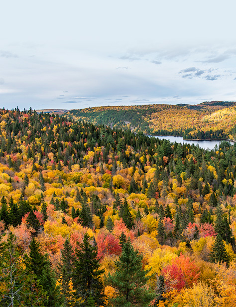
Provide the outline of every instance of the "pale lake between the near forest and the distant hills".
[[[151,136],[149,136],[151,137]],[[191,141],[191,140],[184,140],[183,137],[173,137],[173,136],[154,136],[155,138],[158,138],[160,140],[169,140],[170,142],[177,142],[177,143],[182,143],[182,144],[194,144],[194,145],[198,145],[200,148],[203,149],[209,149],[212,150],[214,149],[214,147],[217,145],[219,146],[219,144],[222,141]],[[230,142],[231,144],[234,144],[233,142]]]

